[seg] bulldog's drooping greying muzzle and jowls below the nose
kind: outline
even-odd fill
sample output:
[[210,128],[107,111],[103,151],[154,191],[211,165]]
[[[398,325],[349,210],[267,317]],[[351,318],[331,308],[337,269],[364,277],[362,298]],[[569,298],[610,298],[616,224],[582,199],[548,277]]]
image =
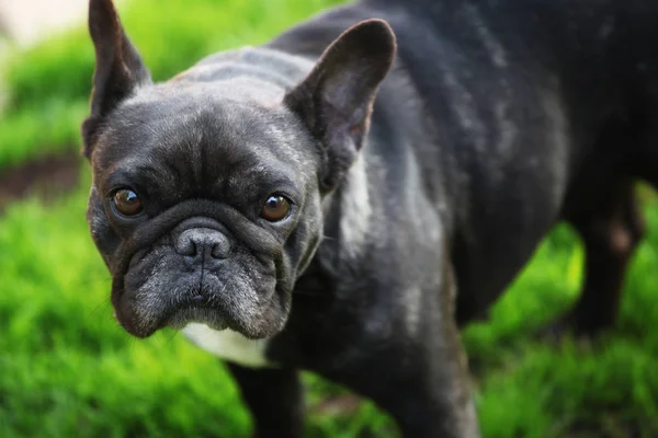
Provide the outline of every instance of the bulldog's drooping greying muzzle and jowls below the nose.
[[273,273],[226,266],[217,270],[177,268],[162,258],[149,268],[131,269],[115,279],[115,314],[132,335],[148,337],[190,323],[215,331],[230,328],[259,338],[282,328],[290,310],[287,293]]

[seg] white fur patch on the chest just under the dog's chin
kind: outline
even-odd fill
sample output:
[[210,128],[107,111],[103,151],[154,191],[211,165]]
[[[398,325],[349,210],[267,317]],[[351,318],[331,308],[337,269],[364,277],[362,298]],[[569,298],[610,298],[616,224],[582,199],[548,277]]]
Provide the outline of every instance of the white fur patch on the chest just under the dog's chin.
[[182,330],[197,347],[228,361],[250,368],[273,367],[265,357],[270,339],[249,339],[232,330],[216,331],[205,324],[190,323]]

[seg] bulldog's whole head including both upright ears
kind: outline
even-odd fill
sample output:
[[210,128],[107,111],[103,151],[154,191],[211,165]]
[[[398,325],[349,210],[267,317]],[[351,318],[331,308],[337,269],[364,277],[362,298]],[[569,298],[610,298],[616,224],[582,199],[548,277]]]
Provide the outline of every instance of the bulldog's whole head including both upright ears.
[[90,31],[88,220],[120,323],[141,337],[190,322],[275,334],[320,242],[322,198],[367,130],[390,30],[345,32],[291,90],[152,84],[110,0],[91,0]]

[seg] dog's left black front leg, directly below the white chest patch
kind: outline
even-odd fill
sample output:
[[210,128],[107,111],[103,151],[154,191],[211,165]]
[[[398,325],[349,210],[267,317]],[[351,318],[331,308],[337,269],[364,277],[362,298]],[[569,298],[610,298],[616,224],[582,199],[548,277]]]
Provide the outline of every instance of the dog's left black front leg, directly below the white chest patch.
[[253,417],[258,438],[300,438],[304,403],[298,372],[227,364]]

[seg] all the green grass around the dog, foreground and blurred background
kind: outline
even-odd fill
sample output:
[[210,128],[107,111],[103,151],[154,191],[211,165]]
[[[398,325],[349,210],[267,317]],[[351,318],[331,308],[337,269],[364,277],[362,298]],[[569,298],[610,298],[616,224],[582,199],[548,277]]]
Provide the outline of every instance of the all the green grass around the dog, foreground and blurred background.
[[[120,8],[156,80],[204,55],[256,45],[338,1],[139,0]],[[83,27],[14,49],[0,73],[0,175],[77,151],[93,70]],[[89,172],[44,204],[0,212],[0,437],[246,436],[249,416],[223,365],[171,331],[128,337],[88,235]],[[464,333],[484,436],[658,437],[658,200],[639,187],[648,237],[628,272],[615,328],[593,344],[549,345],[532,332],[574,301],[582,249],[559,226],[494,308]],[[310,437],[394,437],[371,403],[314,376]],[[341,399],[342,397],[342,399]]]

